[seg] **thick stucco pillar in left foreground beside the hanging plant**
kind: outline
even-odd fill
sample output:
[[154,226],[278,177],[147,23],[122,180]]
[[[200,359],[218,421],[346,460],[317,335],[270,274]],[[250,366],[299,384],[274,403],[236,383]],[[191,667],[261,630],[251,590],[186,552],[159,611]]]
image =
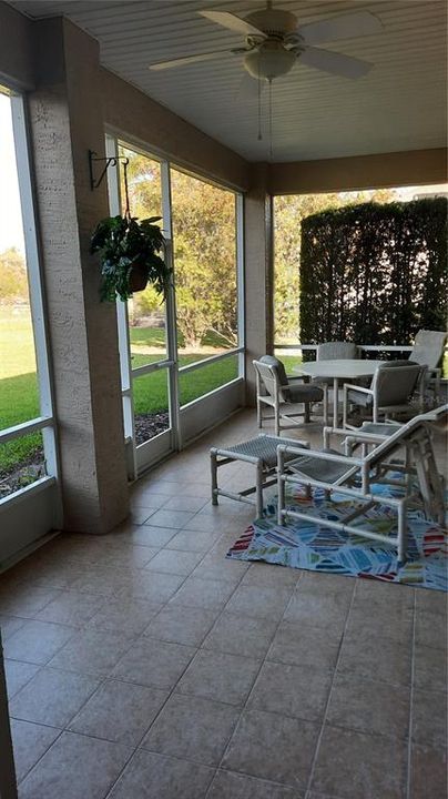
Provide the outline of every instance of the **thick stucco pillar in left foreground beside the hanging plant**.
[[35,23],[29,95],[59,427],[63,529],[105,533],[129,510],[115,306],[89,253],[109,213],[88,150],[104,155],[99,45],[70,21]]

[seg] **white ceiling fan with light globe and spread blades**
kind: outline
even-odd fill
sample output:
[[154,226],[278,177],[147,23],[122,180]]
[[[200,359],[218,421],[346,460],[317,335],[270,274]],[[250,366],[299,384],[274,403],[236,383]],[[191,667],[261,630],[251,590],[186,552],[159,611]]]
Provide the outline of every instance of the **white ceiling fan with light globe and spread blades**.
[[272,1],[266,8],[238,17],[230,11],[203,10],[202,17],[245,36],[245,47],[215,50],[150,65],[151,70],[164,70],[198,61],[208,61],[223,54],[244,54],[244,69],[258,81],[272,81],[287,74],[297,61],[344,78],[362,78],[373,64],[350,55],[323,50],[314,44],[378,33],[380,20],[369,11],[330,17],[318,22],[298,26],[297,17],[284,9],[274,9]]

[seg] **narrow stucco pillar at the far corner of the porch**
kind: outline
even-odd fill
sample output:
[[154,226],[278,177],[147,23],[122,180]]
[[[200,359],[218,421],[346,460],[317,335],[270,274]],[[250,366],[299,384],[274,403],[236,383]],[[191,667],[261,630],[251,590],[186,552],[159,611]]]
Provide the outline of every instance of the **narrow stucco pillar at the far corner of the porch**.
[[246,404],[255,402],[254,358],[273,348],[273,204],[268,164],[251,169],[245,196]]

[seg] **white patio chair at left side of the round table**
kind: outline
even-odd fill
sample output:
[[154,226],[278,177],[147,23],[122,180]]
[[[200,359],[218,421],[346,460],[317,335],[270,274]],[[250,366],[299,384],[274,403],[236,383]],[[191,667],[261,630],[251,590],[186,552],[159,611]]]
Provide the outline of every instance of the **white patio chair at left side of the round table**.
[[[278,436],[281,429],[297,426],[299,417],[308,423],[312,405],[319,402],[324,403],[324,423],[328,423],[326,388],[304,383],[301,377],[287,377],[284,364],[273,355],[263,355],[259,361],[253,361],[253,364],[256,373],[258,427],[263,427],[264,421],[274,419],[275,435]],[[269,407],[273,413],[264,415],[264,406]],[[281,419],[289,424],[281,425]]]

